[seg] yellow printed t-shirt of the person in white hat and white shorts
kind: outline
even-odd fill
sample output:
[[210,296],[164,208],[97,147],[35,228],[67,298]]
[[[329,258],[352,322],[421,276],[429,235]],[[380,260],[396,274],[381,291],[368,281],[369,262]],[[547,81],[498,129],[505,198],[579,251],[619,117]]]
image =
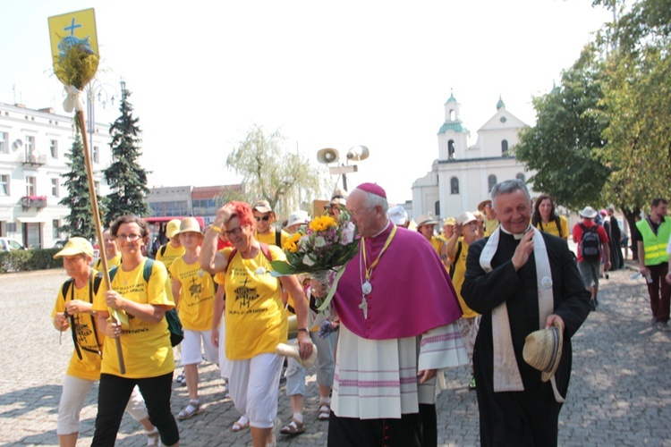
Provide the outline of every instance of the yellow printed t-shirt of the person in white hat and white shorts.
[[182,283],[179,316],[184,329],[209,331],[215,311],[215,283],[212,275],[200,269],[198,261],[187,264],[178,257],[170,266],[170,274]]

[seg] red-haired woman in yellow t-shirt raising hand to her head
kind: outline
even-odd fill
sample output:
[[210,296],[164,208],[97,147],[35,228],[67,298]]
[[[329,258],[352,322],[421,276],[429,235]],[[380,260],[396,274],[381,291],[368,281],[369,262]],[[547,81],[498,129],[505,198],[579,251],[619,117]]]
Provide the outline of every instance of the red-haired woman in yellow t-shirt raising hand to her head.
[[[312,352],[308,333],[308,300],[295,276],[276,278],[270,260],[285,260],[282,249],[254,237],[255,220],[249,204],[229,202],[217,211],[205,232],[200,266],[225,274],[225,352],[230,363],[229,386],[235,408],[250,418],[255,447],[275,443],[279,377],[284,358],[275,352],[286,342],[287,318],[280,283],[293,297],[302,358]],[[217,252],[217,234],[225,233],[234,249]],[[235,252],[233,253],[233,250]],[[229,263],[230,257],[230,263]],[[230,264],[230,265],[229,265]]]

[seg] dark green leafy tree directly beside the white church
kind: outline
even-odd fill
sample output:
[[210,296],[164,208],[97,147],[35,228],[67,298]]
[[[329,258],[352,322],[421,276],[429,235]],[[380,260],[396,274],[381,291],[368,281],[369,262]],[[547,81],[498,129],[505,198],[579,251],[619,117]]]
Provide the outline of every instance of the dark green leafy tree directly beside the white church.
[[606,141],[606,115],[599,114],[603,97],[602,65],[593,46],[562,73],[561,83],[548,94],[533,98],[536,125],[520,132],[515,156],[531,170],[533,189],[551,195],[557,203],[579,209],[601,202],[609,168],[595,157]]

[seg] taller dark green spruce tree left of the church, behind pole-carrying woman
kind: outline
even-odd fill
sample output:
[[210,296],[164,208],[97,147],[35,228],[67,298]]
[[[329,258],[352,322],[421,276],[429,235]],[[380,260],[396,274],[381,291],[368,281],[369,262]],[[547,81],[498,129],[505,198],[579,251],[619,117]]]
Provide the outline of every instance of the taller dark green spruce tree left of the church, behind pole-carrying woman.
[[149,189],[147,188],[147,174],[149,173],[138,164],[140,158],[140,127],[139,118],[133,118],[131,103],[128,97],[131,92],[122,82],[122,100],[119,107],[121,116],[110,127],[112,135],[113,162],[104,171],[105,180],[112,192],[107,195],[106,225],[113,222],[120,215],[149,215],[149,206],[145,201]]

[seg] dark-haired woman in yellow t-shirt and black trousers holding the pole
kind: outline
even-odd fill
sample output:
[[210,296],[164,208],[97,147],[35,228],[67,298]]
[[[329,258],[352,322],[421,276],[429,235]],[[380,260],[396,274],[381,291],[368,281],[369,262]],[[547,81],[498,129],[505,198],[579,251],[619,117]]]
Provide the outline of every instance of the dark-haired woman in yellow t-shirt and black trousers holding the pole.
[[[99,332],[105,333],[102,374],[98,386],[98,416],[92,445],[114,445],[123,406],[137,384],[145,398],[151,422],[164,445],[179,445],[179,430],[170,409],[174,358],[166,311],[174,302],[166,294],[167,271],[153,262],[149,281],[142,255],[149,239],[149,224],[135,215],[123,215],[112,224],[122,264],[112,290],[101,287],[93,302]],[[110,309],[121,322],[106,321]],[[121,343],[125,374],[121,374],[116,345]]]

